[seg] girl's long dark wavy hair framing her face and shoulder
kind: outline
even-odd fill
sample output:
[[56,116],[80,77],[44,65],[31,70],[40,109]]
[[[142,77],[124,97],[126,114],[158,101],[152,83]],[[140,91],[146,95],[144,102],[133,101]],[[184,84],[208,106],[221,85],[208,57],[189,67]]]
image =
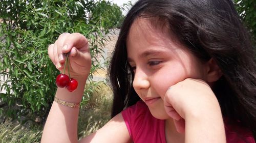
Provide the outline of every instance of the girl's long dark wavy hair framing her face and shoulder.
[[127,64],[126,38],[138,17],[160,18],[177,40],[202,61],[214,59],[223,76],[212,89],[223,117],[256,136],[256,62],[250,34],[230,0],[140,0],[127,13],[113,51],[109,77],[114,92],[112,117],[140,98]]

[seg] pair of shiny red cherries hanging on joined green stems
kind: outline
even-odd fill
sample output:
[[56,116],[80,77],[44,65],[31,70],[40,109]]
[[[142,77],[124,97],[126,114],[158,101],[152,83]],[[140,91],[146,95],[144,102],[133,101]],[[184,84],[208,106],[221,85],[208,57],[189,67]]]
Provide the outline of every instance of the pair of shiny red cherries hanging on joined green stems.
[[[67,54],[67,59],[65,61],[63,74],[62,73],[59,74],[55,82],[59,88],[66,88],[69,92],[73,92],[74,90],[76,90],[78,82],[74,78],[70,77],[70,73],[69,73],[69,76],[65,74],[67,62],[69,62],[69,53]],[[69,64],[68,64],[68,71],[69,71]]]

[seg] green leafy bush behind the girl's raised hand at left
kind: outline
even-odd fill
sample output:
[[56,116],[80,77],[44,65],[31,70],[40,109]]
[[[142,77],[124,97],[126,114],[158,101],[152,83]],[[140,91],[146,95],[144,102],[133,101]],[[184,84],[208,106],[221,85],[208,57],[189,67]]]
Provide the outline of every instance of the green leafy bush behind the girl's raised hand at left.
[[[120,22],[121,16],[120,8],[105,1],[1,1],[0,75],[6,81],[0,84],[1,90],[6,90],[0,94],[1,115],[14,119],[46,117],[59,74],[48,58],[48,45],[61,33],[83,34],[90,41],[93,72],[100,68],[96,57],[106,40],[104,34]],[[87,85],[87,96],[92,85],[96,84]]]

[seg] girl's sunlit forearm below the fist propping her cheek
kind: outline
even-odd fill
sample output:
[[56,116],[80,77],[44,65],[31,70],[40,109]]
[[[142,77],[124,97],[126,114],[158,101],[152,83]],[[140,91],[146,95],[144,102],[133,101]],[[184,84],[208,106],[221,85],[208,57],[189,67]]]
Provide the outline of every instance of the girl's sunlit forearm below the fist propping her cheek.
[[185,127],[185,142],[226,142],[224,123],[219,107],[206,109],[188,117]]

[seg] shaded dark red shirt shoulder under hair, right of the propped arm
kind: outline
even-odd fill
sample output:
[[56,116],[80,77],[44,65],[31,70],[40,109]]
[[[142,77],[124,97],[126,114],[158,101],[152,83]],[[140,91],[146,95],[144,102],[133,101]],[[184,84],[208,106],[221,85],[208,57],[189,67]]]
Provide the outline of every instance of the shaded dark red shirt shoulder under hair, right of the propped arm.
[[252,132],[241,126],[239,122],[225,119],[224,123],[227,143],[255,143]]

